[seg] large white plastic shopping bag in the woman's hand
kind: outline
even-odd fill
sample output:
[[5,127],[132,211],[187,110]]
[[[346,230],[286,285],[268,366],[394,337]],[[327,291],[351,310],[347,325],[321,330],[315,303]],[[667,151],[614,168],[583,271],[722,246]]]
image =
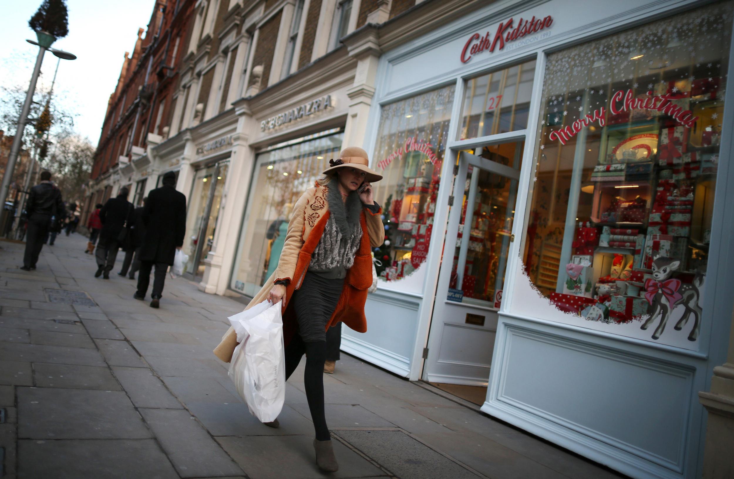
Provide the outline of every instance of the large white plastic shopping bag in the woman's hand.
[[228,319],[239,345],[229,376],[250,413],[262,423],[275,421],[286,400],[286,358],[280,301],[263,301]]

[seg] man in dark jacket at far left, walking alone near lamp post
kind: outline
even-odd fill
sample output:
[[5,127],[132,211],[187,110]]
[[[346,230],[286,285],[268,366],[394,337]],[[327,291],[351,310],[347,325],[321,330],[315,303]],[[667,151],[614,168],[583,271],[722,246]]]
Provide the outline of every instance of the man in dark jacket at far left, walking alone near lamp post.
[[[38,255],[48,234],[52,221],[65,216],[61,191],[51,183],[51,173],[41,172],[41,182],[34,186],[26,202],[28,231],[26,233],[26,252],[23,255],[23,271],[36,268]],[[52,220],[53,219],[53,220]]]

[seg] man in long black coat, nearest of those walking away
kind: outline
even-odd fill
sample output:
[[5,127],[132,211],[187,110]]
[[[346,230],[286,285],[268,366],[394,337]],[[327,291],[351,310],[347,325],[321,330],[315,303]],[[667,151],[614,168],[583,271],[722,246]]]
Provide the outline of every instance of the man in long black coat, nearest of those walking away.
[[163,175],[163,186],[150,191],[143,208],[145,241],[140,249],[140,272],[135,299],[145,299],[150,284],[150,270],[156,266],[150,307],[159,307],[168,266],[173,265],[176,249],[183,246],[186,234],[186,197],[176,191],[174,172]]

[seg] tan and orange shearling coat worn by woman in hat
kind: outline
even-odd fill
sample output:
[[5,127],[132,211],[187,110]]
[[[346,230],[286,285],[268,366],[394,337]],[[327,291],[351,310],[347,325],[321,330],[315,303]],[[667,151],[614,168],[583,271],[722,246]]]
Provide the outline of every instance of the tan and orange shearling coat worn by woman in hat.
[[[275,281],[288,279],[286,296],[283,298],[283,338],[288,344],[297,331],[296,315],[292,307],[288,307],[290,299],[295,290],[301,287],[303,277],[311,262],[311,254],[321,240],[324,227],[329,219],[329,203],[327,202],[327,186],[316,186],[306,190],[294,206],[291,221],[288,223],[288,233],[280,252],[277,268],[271,277],[265,282],[261,290],[247,304],[245,310],[255,304],[265,301],[273,288]],[[365,301],[367,301],[367,288],[372,285],[372,255],[371,249],[382,245],[385,240],[385,227],[380,215],[382,208],[377,213],[371,213],[362,208],[360,214],[360,225],[362,227],[362,242],[355,254],[355,263],[346,273],[344,289],[336,305],[327,329],[342,321],[357,332],[367,331],[367,320],[365,318]],[[214,354],[224,362],[230,362],[234,348],[237,346],[237,334],[230,327],[222,337],[222,341],[214,348]]]

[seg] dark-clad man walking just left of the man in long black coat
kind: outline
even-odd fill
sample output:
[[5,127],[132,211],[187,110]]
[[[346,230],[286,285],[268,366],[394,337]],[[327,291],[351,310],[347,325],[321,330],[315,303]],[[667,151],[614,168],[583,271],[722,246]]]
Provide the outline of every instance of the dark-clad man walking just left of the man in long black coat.
[[95,278],[104,274],[109,279],[109,271],[115,266],[117,252],[120,250],[120,233],[130,226],[135,207],[127,200],[128,189],[120,189],[117,198],[110,198],[99,211],[102,230],[97,245],[97,272]]

